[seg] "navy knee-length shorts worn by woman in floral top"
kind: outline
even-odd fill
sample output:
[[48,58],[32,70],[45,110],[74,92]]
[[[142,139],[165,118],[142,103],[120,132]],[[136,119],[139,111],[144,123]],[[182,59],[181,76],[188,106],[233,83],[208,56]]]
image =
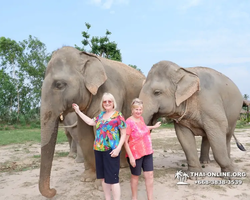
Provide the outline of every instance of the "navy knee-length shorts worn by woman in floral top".
[[96,178],[104,179],[105,183],[119,183],[120,154],[111,157],[108,151],[95,151]]

